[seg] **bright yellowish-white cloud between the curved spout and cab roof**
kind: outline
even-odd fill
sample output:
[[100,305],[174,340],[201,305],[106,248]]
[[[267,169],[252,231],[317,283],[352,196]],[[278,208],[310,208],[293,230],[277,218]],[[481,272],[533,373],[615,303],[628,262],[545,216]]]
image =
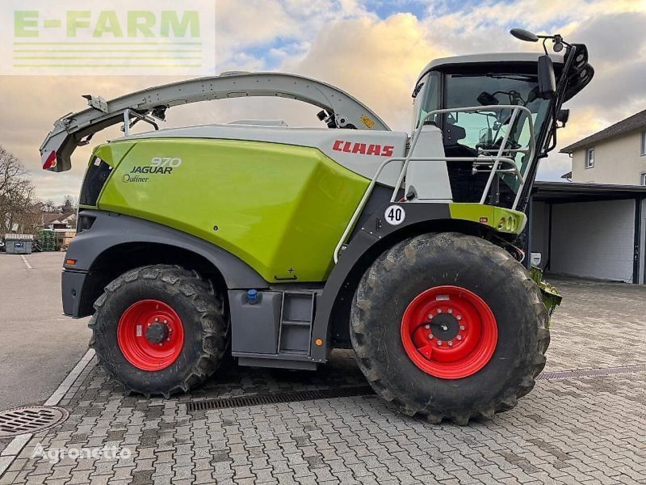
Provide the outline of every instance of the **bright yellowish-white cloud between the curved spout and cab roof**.
[[391,128],[405,131],[417,76],[430,59],[445,54],[426,41],[415,16],[395,14],[339,21],[313,39],[302,59],[287,60],[282,68],[339,86]]

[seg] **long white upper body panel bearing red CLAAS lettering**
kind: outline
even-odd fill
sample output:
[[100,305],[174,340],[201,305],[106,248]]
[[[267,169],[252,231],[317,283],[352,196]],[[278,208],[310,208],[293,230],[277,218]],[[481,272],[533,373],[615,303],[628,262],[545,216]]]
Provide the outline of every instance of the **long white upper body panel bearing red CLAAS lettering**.
[[[141,138],[213,138],[314,147],[349,170],[366,178],[373,178],[377,168],[386,158],[406,155],[408,135],[401,131],[201,125],[148,131],[140,135],[124,136],[120,140]],[[444,167],[446,169],[446,164]],[[378,182],[394,187],[401,169],[402,162],[388,164]]]

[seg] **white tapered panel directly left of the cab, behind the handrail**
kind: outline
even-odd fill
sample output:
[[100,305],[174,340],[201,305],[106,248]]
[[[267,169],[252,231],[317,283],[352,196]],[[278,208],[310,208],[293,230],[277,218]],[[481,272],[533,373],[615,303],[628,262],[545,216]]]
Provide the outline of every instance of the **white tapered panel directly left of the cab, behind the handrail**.
[[[441,158],[444,156],[442,132],[434,125],[424,125],[412,156]],[[406,172],[406,194],[417,193],[411,202],[452,202],[453,195],[446,162],[421,162],[411,160]]]

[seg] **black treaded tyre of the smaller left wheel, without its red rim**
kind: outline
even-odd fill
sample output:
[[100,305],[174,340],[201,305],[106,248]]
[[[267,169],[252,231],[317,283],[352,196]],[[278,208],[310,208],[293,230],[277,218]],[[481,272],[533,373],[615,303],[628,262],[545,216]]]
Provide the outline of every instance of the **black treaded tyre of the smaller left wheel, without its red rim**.
[[[182,319],[184,341],[176,360],[160,371],[143,371],[121,352],[117,327],[133,303],[157,299],[170,305]],[[90,319],[90,347],[103,369],[129,393],[145,396],[185,393],[216,371],[227,349],[229,323],[224,301],[194,271],[155,264],[129,270],[105,287],[94,303]]]

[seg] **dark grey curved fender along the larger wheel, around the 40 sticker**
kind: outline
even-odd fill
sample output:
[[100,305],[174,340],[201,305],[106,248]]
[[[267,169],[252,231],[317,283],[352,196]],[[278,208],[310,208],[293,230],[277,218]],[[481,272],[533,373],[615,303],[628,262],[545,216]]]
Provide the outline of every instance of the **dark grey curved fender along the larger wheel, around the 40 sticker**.
[[[451,218],[448,204],[413,204],[404,202],[398,204],[405,210],[406,216],[404,221],[397,226],[391,226],[384,221],[384,212],[390,205],[390,203],[383,204],[370,217],[362,221],[359,230],[355,232],[346,249],[342,251],[339,257],[339,263],[337,263],[329,275],[322,296],[317,301],[317,313],[312,330],[313,342],[318,338],[324,341],[324,345],[320,347],[314,344],[310,347],[310,355],[316,362],[326,361],[326,354],[330,345],[329,332],[331,330],[331,319],[335,307],[349,305],[354,294],[355,288],[344,287],[346,281],[351,276],[353,270],[364,268],[365,264],[369,265],[379,253],[388,248],[388,244],[382,241],[382,239],[386,236],[393,235],[395,232],[406,233],[408,232],[407,228],[410,229],[410,226],[418,224],[419,222]],[[376,254],[370,255],[368,261],[361,261],[368,257],[366,255],[367,253],[371,252],[375,252]]]

